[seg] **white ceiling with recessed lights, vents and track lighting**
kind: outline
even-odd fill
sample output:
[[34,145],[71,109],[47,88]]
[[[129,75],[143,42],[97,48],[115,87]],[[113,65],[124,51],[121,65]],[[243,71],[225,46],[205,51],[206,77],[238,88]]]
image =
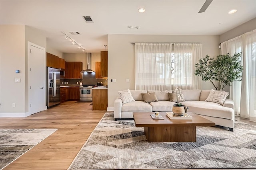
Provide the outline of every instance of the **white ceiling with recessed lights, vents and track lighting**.
[[[67,33],[86,49],[105,50],[108,34],[220,35],[256,17],[256,0],[0,0],[0,24],[38,28],[47,43],[63,53],[82,53]],[[139,13],[138,8],[146,12]],[[228,11],[236,9],[234,14]],[[86,23],[82,16],[91,16]],[[128,26],[140,29],[128,29]],[[78,31],[80,35],[71,35]]]

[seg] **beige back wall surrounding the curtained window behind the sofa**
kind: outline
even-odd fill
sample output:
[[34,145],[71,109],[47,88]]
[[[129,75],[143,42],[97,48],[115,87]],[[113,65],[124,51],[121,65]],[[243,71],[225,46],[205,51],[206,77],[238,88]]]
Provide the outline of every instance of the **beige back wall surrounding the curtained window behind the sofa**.
[[[134,45],[132,42],[202,43],[202,55],[220,54],[219,35],[108,35],[108,107],[114,107],[118,91],[134,90]],[[115,78],[116,82],[110,80]],[[130,79],[130,82],[126,82]],[[202,89],[214,88],[203,82]]]

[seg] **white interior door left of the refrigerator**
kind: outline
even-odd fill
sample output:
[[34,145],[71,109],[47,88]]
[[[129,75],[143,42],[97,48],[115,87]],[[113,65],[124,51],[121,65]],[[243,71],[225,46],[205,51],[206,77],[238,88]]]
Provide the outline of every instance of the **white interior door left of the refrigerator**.
[[28,42],[28,110],[30,114],[46,107],[45,49]]

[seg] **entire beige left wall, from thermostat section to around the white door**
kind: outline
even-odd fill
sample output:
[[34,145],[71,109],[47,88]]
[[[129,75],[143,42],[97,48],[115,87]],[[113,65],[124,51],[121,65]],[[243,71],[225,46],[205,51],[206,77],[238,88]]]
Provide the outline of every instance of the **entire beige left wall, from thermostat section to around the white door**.
[[[46,37],[38,29],[26,25],[0,25],[0,37],[0,115],[26,115],[28,41],[46,48]],[[44,59],[46,61],[46,55]],[[46,70],[42,70],[40,76],[46,84]],[[15,78],[20,78],[21,82],[15,82]],[[12,107],[12,103],[16,106]]]

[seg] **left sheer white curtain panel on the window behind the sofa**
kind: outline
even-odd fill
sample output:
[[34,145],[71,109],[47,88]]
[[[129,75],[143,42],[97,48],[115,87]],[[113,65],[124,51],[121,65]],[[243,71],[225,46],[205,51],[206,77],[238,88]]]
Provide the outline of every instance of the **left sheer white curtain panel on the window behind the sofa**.
[[135,89],[171,89],[172,44],[135,43]]

